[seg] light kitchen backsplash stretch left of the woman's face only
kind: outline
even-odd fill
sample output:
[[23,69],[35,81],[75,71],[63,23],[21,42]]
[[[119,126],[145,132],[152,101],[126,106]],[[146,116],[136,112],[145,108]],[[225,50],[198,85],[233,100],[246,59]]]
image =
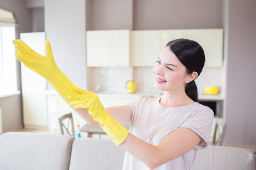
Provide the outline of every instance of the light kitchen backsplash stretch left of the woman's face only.
[[151,67],[88,67],[88,90],[126,92],[126,82],[135,81],[136,92],[157,92],[155,76]]

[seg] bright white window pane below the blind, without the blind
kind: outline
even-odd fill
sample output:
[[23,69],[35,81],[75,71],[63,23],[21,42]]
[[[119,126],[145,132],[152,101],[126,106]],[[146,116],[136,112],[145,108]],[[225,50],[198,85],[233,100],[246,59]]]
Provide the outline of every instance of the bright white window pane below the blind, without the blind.
[[15,26],[0,26],[0,95],[16,93]]

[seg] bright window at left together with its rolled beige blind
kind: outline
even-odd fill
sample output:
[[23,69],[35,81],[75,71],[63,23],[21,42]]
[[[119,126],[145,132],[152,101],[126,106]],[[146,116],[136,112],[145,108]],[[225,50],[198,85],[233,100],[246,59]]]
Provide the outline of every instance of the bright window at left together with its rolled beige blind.
[[17,93],[16,58],[12,40],[15,40],[15,13],[0,9],[0,96]]

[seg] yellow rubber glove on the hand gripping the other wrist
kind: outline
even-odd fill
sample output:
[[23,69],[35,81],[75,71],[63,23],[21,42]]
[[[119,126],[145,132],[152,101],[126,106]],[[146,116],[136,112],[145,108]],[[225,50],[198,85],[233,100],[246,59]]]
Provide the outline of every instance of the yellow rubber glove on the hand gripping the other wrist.
[[79,94],[68,97],[72,100],[70,105],[75,109],[87,108],[88,113],[94,120],[99,122],[101,128],[106,132],[110,139],[116,145],[121,144],[129,134],[129,130],[127,130],[106,111],[104,106],[101,104],[99,97],[95,93],[82,90],[78,87],[74,87],[73,90]]

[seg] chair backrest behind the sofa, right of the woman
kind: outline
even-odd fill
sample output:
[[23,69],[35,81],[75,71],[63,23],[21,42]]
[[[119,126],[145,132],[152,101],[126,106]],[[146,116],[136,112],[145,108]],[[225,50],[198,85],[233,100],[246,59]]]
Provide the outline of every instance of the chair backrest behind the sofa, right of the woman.
[[221,117],[216,118],[216,125],[213,133],[213,142],[212,145],[223,145],[227,130],[227,124]]

